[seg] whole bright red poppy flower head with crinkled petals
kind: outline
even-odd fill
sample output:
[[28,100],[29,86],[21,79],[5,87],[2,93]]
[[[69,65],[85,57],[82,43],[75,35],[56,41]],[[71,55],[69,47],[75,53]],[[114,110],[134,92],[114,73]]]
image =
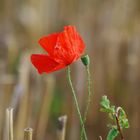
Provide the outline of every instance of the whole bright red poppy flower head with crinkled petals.
[[62,69],[83,54],[85,45],[74,26],[65,26],[64,31],[42,37],[39,44],[48,54],[32,54],[32,64],[41,74]]

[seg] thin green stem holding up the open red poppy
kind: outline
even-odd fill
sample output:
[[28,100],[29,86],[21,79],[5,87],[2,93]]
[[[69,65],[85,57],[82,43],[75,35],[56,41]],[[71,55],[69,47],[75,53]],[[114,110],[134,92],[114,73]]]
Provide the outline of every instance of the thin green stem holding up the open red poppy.
[[76,110],[77,110],[77,113],[78,113],[78,116],[79,116],[80,124],[81,124],[82,131],[83,131],[83,135],[85,137],[85,140],[88,140],[87,139],[87,135],[86,135],[86,130],[85,130],[84,122],[83,122],[82,115],[81,115],[81,112],[80,112],[80,107],[79,107],[78,100],[77,100],[77,97],[76,97],[76,93],[75,93],[75,90],[74,90],[74,87],[73,87],[73,84],[72,84],[72,80],[71,80],[70,66],[68,66],[68,68],[67,68],[67,77],[68,77],[68,82],[69,82],[71,90],[72,90],[72,95],[73,95],[75,106],[76,106]]

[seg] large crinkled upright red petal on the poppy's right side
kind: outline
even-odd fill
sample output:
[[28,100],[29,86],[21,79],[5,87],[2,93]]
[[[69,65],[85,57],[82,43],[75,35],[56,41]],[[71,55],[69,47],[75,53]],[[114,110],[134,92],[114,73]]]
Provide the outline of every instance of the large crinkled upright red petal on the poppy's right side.
[[57,47],[54,48],[55,59],[63,60],[68,65],[77,60],[83,54],[84,49],[85,44],[75,27],[66,26],[59,34]]

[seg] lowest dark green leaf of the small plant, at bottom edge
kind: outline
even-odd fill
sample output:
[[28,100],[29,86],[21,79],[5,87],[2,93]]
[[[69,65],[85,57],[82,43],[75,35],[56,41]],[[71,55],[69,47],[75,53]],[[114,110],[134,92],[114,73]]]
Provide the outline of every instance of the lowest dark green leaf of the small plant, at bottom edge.
[[118,130],[112,128],[107,135],[107,140],[114,140],[118,136],[118,134],[119,134]]

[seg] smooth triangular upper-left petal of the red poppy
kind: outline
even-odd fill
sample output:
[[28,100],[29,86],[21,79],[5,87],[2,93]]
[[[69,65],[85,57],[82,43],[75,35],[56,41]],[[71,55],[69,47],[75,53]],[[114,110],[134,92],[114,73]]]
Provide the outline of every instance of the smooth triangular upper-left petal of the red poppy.
[[39,44],[51,55],[53,54],[54,47],[56,46],[59,33],[44,36],[38,41]]

